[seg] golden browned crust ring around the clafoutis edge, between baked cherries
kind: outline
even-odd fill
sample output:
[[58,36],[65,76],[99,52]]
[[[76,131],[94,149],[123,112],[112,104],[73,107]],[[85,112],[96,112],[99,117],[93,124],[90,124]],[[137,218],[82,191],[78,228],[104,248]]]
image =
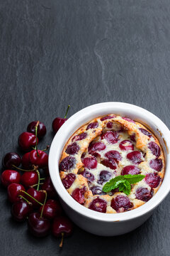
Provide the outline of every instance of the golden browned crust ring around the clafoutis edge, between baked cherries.
[[[141,170],[141,174],[157,172],[158,176],[160,176],[160,178],[161,178],[161,182],[159,183],[159,186],[157,188],[152,188],[153,195],[155,193],[157,193],[159,187],[162,184],[162,180],[164,178],[164,169],[165,169],[164,153],[163,153],[161,145],[159,144],[157,137],[155,137],[154,134],[152,132],[150,132],[149,129],[147,129],[144,125],[140,124],[139,122],[130,122],[128,119],[123,119],[123,117],[120,117],[115,114],[108,114],[107,116],[112,117],[112,118],[105,119],[103,121],[101,121],[102,117],[93,119],[93,120],[91,120],[91,122],[98,122],[98,127],[94,128],[94,129],[86,130],[88,124],[91,123],[91,122],[89,122],[88,124],[84,124],[84,126],[77,129],[77,131],[74,132],[72,137],[69,138],[68,142],[65,144],[64,149],[62,151],[60,162],[65,157],[69,156],[69,154],[67,154],[67,152],[66,152],[67,146],[69,146],[69,144],[72,144],[74,142],[74,137],[76,135],[82,134],[84,132],[86,132],[86,134],[87,134],[85,139],[77,141],[77,144],[79,145],[79,151],[77,152],[77,154],[74,155],[74,158],[76,159],[74,168],[70,169],[69,171],[60,171],[60,177],[61,177],[61,179],[63,179],[63,178],[65,178],[65,176],[67,176],[68,173],[72,173],[72,174],[76,175],[76,179],[75,179],[74,183],[72,184],[72,186],[70,188],[67,189],[67,191],[70,195],[72,195],[72,192],[74,191],[75,188],[82,188],[85,186],[86,187],[86,193],[84,194],[84,197],[85,197],[84,206],[85,207],[88,208],[91,201],[93,201],[94,198],[99,197],[99,198],[103,198],[107,202],[106,213],[116,213],[116,211],[111,207],[111,200],[113,198],[115,198],[115,196],[125,195],[125,194],[118,192],[118,193],[114,193],[113,196],[109,196],[109,195],[103,195],[103,196],[94,195],[93,196],[93,193],[91,192],[91,190],[89,188],[87,179],[84,178],[84,176],[82,176],[81,174],[78,174],[78,171],[80,169],[84,169],[84,164],[81,161],[81,155],[87,151],[89,144],[92,141],[94,141],[94,139],[96,139],[96,137],[98,137],[103,131],[107,130],[106,125],[108,122],[113,122],[115,127],[120,125],[125,130],[127,130],[129,135],[135,134],[136,148],[139,149],[140,151],[142,151],[143,153],[145,153],[145,161],[142,161],[142,163],[140,163],[138,165]],[[141,128],[147,130],[150,134],[152,134],[152,137],[148,137],[147,135],[143,134],[140,131]],[[148,148],[149,142],[156,142],[161,149],[161,154],[159,156],[159,159],[162,159],[162,163],[163,163],[162,171],[159,171],[159,172],[154,171],[153,169],[151,169],[149,167],[149,160],[156,159],[156,157],[152,154],[152,152]],[[145,183],[145,181],[142,181],[142,182]],[[144,201],[141,201],[141,200],[138,200],[137,198],[135,198],[135,191],[138,187],[139,187],[139,184],[136,183],[135,186],[132,187],[131,193],[128,196],[128,198],[130,198],[130,201],[133,203],[133,207],[131,209],[142,206],[145,203]],[[147,184],[145,184],[145,187],[148,188],[149,186]]]

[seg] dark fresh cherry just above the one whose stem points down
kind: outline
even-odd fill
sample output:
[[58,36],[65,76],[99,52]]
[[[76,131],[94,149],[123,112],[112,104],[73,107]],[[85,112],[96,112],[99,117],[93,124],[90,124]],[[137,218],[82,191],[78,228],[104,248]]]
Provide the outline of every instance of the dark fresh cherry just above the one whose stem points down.
[[[42,206],[39,209],[41,213]],[[44,210],[42,215],[47,218],[48,220],[53,220],[55,217],[60,216],[62,214],[62,206],[58,201],[49,199],[45,203]]]

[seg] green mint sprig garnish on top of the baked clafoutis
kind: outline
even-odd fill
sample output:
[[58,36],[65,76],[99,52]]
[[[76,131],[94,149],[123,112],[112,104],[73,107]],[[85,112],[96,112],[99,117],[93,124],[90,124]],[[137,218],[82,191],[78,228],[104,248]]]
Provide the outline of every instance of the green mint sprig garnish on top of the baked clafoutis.
[[102,190],[103,192],[109,192],[115,188],[119,188],[119,191],[123,191],[123,193],[129,195],[131,190],[130,184],[135,184],[142,181],[143,178],[145,178],[145,175],[142,174],[116,176],[115,178],[112,178],[110,181],[106,182]]

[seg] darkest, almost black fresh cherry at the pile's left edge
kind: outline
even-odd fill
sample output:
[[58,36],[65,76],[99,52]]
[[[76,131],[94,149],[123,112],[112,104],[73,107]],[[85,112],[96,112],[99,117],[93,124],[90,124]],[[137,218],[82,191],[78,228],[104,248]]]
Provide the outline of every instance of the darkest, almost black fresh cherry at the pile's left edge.
[[21,157],[15,152],[9,152],[4,155],[2,165],[6,169],[13,169],[13,165],[18,167],[21,164]]

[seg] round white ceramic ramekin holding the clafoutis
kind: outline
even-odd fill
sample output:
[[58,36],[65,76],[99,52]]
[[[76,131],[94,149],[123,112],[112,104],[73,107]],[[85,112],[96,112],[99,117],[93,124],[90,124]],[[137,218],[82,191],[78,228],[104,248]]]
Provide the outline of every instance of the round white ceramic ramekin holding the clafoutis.
[[[158,137],[160,144],[162,144],[166,161],[164,181],[162,182],[162,186],[159,188],[159,191],[157,191],[153,198],[143,206],[125,213],[98,213],[94,210],[81,206],[72,198],[72,196],[69,195],[62,185],[58,169],[62,149],[69,137],[79,127],[81,127],[81,125],[86,124],[86,122],[91,121],[91,119],[110,113],[130,117],[131,119],[135,119],[135,121],[141,122],[142,124],[145,124],[145,126],[149,127],[149,129],[151,129]],[[96,235],[121,235],[139,227],[145,222],[145,220],[147,220],[147,218],[149,218],[154,208],[156,208],[169,193],[169,146],[169,129],[158,117],[141,107],[123,102],[104,102],[91,105],[74,114],[62,125],[55,135],[50,146],[49,155],[49,169],[52,183],[60,196],[62,206],[67,215],[69,215],[69,218],[79,225],[80,228]]]

